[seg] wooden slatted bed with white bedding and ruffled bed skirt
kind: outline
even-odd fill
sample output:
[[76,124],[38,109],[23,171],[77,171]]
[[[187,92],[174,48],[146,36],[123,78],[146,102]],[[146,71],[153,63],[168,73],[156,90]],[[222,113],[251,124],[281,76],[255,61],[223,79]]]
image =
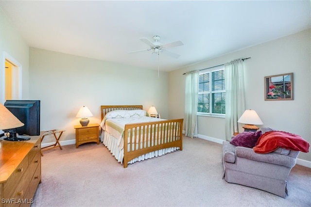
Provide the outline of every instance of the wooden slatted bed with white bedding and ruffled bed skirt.
[[101,141],[124,168],[183,149],[183,119],[149,117],[142,105],[101,106],[101,113]]

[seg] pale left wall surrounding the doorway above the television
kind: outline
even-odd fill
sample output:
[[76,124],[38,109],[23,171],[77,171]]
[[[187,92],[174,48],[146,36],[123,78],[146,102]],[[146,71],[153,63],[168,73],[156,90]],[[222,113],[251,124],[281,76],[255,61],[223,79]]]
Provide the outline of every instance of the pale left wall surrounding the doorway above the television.
[[29,96],[29,47],[17,30],[11,26],[11,21],[0,8],[0,102],[5,102],[4,95],[4,68],[5,57],[13,58],[22,69],[22,98]]

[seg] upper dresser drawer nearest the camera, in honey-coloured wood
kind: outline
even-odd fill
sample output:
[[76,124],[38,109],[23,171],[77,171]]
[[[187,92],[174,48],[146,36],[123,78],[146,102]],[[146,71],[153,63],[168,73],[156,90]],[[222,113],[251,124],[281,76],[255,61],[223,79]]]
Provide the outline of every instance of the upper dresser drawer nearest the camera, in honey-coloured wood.
[[[5,183],[3,183],[3,197],[10,198],[13,194],[16,186],[18,185],[21,177],[25,174],[29,165],[29,155],[27,154],[26,157],[20,162],[18,167],[12,173],[12,175],[7,179]],[[29,179],[27,179],[28,181]]]

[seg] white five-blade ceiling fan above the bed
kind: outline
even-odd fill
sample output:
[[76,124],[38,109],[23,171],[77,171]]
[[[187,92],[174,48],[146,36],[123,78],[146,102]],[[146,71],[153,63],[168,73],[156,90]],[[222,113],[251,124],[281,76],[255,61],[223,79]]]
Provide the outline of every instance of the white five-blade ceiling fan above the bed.
[[159,55],[160,52],[163,52],[163,54],[166,54],[166,55],[171,56],[173,58],[179,58],[180,57],[179,54],[170,52],[166,48],[173,48],[173,47],[182,46],[182,45],[184,45],[184,43],[182,43],[181,41],[176,41],[176,42],[172,42],[172,43],[168,43],[168,44],[162,45],[162,43],[158,42],[160,40],[160,36],[155,35],[155,36],[153,36],[153,39],[155,40],[155,42],[151,42],[147,38],[139,38],[139,40],[141,40],[145,44],[149,45],[150,48],[142,49],[142,50],[136,50],[136,51],[131,51],[129,53],[152,50],[152,53],[155,53],[157,55]]

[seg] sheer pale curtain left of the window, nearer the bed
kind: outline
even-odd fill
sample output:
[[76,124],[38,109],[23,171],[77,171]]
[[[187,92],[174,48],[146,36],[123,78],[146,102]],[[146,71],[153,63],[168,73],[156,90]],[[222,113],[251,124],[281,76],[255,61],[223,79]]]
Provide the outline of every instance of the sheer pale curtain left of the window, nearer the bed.
[[185,90],[185,135],[197,137],[197,118],[199,91],[199,70],[187,73]]

